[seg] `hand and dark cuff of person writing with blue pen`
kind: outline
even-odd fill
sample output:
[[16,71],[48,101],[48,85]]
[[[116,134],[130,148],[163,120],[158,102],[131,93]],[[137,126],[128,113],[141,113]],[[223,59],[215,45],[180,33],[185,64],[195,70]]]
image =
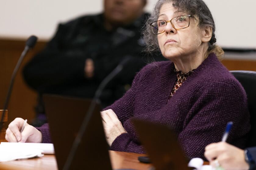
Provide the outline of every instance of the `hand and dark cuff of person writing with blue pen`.
[[225,170],[255,170],[256,147],[245,150],[226,142],[212,143],[205,147],[205,158],[213,167]]

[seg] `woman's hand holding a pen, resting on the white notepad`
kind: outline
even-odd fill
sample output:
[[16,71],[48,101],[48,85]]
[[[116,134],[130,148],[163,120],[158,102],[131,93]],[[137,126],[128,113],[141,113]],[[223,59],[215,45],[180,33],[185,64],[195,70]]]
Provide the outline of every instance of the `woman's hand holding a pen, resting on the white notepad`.
[[20,129],[22,128],[24,121],[25,120],[22,118],[16,118],[9,124],[5,134],[6,141],[41,143],[42,133],[29,124],[26,124],[24,130],[20,134]]

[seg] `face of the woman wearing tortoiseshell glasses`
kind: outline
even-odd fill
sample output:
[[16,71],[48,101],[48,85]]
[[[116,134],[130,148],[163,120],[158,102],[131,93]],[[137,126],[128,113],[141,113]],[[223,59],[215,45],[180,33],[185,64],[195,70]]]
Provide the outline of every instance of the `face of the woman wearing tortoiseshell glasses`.
[[[184,12],[176,12],[172,3],[162,5],[158,20],[169,21],[180,15],[190,15]],[[196,29],[193,17],[190,17],[190,25],[185,29],[176,30],[170,22],[167,22],[165,32],[158,34],[158,44],[163,56],[167,59],[190,56],[196,54],[201,44],[201,30]],[[169,42],[170,41],[170,42]]]

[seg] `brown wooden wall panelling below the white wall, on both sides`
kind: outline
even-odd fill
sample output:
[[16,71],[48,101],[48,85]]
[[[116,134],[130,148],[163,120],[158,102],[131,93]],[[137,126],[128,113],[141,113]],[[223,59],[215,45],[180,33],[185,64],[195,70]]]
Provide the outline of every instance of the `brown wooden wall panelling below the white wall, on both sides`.
[[[37,42],[23,61],[23,64],[17,74],[11,100],[8,107],[9,124],[16,117],[28,119],[28,123],[34,118],[34,107],[36,105],[37,94],[30,89],[22,78],[22,68],[35,53],[44,48],[46,42]],[[3,109],[6,93],[9,86],[12,71],[23,51],[25,40],[0,39],[0,110]],[[229,70],[254,70],[256,71],[256,60],[230,60],[222,61],[223,65]]]

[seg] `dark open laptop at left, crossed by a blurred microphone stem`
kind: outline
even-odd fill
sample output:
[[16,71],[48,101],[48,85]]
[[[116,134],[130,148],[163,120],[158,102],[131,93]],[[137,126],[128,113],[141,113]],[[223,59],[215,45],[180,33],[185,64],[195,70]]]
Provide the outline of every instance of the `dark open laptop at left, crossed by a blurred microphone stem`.
[[[58,168],[61,170],[91,100],[56,95],[44,95],[43,100]],[[100,110],[97,104],[69,169],[112,170]]]

